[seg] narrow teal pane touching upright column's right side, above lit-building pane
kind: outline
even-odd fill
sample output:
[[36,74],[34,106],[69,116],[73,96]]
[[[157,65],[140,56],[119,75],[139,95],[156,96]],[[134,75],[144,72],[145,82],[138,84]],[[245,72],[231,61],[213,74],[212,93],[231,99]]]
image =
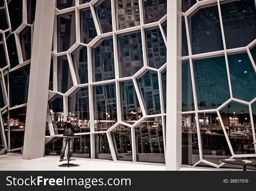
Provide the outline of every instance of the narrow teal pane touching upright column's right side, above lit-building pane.
[[182,61],[182,111],[195,111],[189,60]]

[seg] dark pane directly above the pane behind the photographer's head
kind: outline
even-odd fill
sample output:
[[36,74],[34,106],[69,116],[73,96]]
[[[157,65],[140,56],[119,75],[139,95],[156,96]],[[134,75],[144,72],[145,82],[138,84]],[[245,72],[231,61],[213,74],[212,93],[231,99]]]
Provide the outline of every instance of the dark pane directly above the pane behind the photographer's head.
[[71,53],[71,57],[77,77],[77,84],[88,83],[87,47],[80,45]]

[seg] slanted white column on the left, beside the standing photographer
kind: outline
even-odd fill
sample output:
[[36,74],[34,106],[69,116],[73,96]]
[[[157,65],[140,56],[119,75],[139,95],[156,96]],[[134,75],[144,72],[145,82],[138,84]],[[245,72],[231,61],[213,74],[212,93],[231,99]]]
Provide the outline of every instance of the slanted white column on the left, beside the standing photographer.
[[44,156],[45,115],[51,63],[55,0],[37,0],[31,55],[23,159]]

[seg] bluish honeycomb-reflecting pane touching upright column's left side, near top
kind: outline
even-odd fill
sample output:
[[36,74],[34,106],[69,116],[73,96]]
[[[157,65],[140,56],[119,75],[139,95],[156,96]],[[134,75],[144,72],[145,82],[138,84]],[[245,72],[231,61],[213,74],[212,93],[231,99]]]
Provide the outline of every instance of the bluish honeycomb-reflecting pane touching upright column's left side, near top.
[[166,63],[166,46],[159,27],[145,29],[148,66],[159,69]]

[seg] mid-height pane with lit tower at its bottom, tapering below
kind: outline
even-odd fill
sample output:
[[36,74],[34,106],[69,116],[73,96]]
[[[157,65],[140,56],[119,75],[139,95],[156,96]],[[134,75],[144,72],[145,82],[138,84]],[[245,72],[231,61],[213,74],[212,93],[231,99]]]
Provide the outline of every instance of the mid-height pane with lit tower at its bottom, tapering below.
[[141,106],[132,80],[120,82],[122,121],[134,124],[142,117]]

